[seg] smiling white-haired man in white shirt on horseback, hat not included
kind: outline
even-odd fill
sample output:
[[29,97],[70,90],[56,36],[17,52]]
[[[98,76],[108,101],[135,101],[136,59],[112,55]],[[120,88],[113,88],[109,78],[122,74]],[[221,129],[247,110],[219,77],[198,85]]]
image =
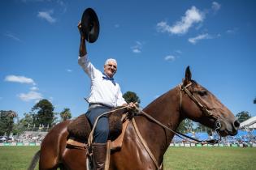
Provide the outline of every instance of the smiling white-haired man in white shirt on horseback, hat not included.
[[[136,104],[127,104],[122,96],[119,84],[115,83],[114,75],[117,70],[115,59],[107,59],[104,65],[104,72],[96,69],[89,61],[85,47],[85,36],[81,32],[81,23],[78,23],[80,31],[80,49],[78,63],[88,74],[91,80],[91,90],[87,100],[89,109],[85,113],[91,125],[102,113],[111,111],[117,106],[128,106],[135,108]],[[104,169],[106,160],[106,142],[109,134],[108,117],[101,117],[93,134],[93,161],[95,169]]]

